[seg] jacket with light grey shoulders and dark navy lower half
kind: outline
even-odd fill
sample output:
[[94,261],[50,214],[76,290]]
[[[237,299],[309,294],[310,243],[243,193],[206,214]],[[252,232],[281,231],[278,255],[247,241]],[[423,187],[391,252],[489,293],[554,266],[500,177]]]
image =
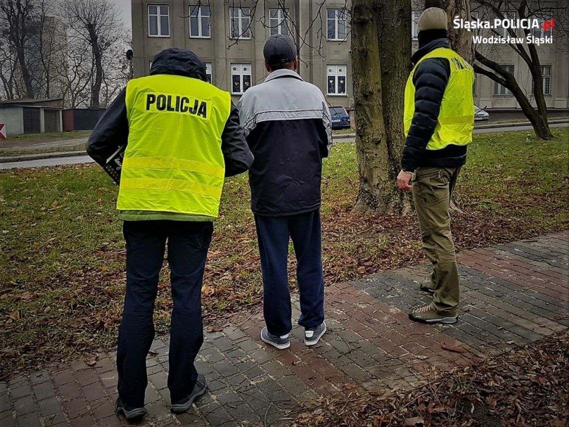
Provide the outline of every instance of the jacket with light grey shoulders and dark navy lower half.
[[237,104],[255,160],[249,169],[251,210],[282,216],[320,208],[322,159],[332,122],[320,89],[291,70],[277,70]]

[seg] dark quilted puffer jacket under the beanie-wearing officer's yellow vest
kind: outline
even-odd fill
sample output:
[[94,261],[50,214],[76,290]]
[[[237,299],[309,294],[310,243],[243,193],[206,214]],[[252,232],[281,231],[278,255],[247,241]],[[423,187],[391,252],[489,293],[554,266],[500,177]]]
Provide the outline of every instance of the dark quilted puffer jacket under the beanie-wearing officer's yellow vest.
[[[436,39],[420,48],[411,57],[413,64],[435,49],[448,48],[447,39]],[[451,70],[448,60],[429,58],[419,64],[413,74],[415,85],[415,114],[403,147],[401,167],[403,171],[414,172],[422,166],[451,168],[466,163],[466,146],[453,144],[442,150],[427,150],[427,144],[435,132],[439,119],[440,104],[447,88]]]

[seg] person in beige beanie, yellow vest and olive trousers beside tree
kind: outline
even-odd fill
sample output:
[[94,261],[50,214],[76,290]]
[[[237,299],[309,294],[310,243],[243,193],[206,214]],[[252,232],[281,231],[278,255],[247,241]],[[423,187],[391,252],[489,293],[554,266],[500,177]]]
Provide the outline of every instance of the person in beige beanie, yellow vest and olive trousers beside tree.
[[474,71],[448,48],[444,10],[423,12],[418,41],[405,88],[406,141],[397,185],[413,189],[423,250],[433,266],[420,289],[432,293],[432,303],[412,310],[409,317],[451,324],[458,318],[459,276],[448,208],[472,142]]

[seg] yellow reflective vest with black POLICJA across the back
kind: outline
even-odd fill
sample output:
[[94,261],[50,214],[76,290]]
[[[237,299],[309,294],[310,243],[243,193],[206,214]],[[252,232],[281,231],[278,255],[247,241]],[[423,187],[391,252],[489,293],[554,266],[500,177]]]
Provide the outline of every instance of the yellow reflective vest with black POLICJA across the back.
[[129,140],[117,209],[218,216],[228,92],[195,78],[156,74],[126,86]]

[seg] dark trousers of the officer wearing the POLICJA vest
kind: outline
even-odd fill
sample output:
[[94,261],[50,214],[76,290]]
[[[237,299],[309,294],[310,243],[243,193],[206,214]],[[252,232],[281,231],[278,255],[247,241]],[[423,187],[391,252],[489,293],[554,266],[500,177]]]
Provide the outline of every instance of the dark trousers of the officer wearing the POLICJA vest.
[[125,221],[126,296],[118,334],[118,394],[142,407],[148,383],[146,356],[154,339],[154,300],[168,242],[172,309],[168,389],[172,401],[189,395],[197,379],[193,362],[204,341],[201,285],[212,222]]

